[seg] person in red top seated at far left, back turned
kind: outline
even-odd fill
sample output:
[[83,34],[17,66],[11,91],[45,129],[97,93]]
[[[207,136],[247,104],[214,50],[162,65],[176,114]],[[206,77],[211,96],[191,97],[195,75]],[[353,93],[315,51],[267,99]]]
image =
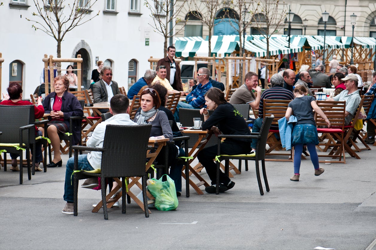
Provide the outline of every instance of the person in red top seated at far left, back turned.
[[[7,88],[8,94],[3,93],[4,100],[0,103],[0,105],[11,105],[11,106],[18,106],[18,105],[33,105],[29,101],[22,101],[22,87],[17,82],[11,82],[9,87]],[[34,106],[34,116],[35,119],[42,118],[44,115],[44,108],[42,105],[42,98],[38,98],[38,104]],[[42,131],[39,131],[37,127],[35,127],[35,137],[42,136]],[[10,154],[12,159],[12,171],[20,171],[20,168],[17,166],[17,157],[18,154]],[[42,171],[39,168],[39,163],[42,162],[42,145],[36,142],[35,145],[35,170]]]

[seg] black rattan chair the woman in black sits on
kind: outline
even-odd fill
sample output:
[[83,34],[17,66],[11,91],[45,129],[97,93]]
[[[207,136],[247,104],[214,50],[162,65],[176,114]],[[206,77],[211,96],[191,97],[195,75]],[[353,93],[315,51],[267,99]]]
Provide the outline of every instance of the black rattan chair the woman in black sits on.
[[[271,125],[271,122],[273,121],[274,116],[267,116],[264,117],[264,121],[261,125],[260,133],[251,133],[250,136],[237,136],[237,135],[218,135],[218,155],[221,155],[221,139],[222,138],[252,138],[252,139],[258,139],[257,145],[256,145],[256,155],[255,157],[249,157],[247,155],[221,155],[220,161],[225,160],[225,174],[228,175],[229,172],[229,160],[230,159],[238,159],[238,160],[254,160],[256,164],[256,177],[257,182],[260,189],[260,194],[264,195],[264,190],[262,189],[261,184],[261,178],[260,178],[260,168],[259,168],[259,161],[261,160],[261,166],[262,166],[262,175],[264,175],[264,182],[266,191],[269,192],[269,184],[268,179],[266,177],[265,172],[265,147],[266,147],[266,140],[268,137],[268,131]],[[216,194],[219,194],[219,171],[220,171],[220,162],[217,161],[217,188],[216,188]]]

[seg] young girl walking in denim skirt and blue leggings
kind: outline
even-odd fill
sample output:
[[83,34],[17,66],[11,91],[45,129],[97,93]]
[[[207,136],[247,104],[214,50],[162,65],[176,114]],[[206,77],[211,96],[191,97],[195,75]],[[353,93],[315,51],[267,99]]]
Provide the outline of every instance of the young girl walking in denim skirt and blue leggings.
[[294,175],[290,178],[292,181],[299,181],[299,169],[303,144],[307,145],[307,149],[311,155],[311,161],[315,168],[315,175],[318,176],[324,172],[324,169],[318,166],[318,156],[315,146],[318,144],[318,135],[312,109],[325,119],[328,127],[330,127],[330,122],[323,111],[317,106],[315,98],[306,94],[306,88],[303,85],[297,85],[294,88],[294,95],[296,98],[288,104],[285,115],[287,120],[291,115],[294,115],[297,119],[297,123],[293,128],[293,134],[291,136],[291,145],[294,146]]

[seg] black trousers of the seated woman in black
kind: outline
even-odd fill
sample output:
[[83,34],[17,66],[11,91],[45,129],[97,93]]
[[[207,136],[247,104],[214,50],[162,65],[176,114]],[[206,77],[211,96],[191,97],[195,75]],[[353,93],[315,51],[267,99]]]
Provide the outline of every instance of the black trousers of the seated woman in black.
[[[247,154],[251,150],[250,142],[222,142],[221,154]],[[217,164],[215,163],[215,156],[217,155],[218,146],[214,145],[208,148],[202,149],[197,155],[199,162],[205,167],[206,172],[209,175],[211,184],[215,184],[217,178]],[[220,171],[219,182],[227,185],[230,182],[230,178]]]

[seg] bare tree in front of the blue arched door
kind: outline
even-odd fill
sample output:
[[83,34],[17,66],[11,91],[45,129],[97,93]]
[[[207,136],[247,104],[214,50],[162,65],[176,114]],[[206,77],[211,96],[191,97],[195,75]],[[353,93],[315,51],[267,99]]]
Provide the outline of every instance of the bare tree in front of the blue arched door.
[[[214,23],[215,21],[215,14],[217,14],[218,11],[220,11],[221,6],[223,5],[223,2],[217,1],[217,0],[203,0],[200,1],[199,4],[197,3],[197,0],[193,0],[193,6],[196,9],[196,11],[191,11],[190,13],[198,18],[202,23],[208,27],[209,30],[209,52],[208,56],[211,56],[211,37],[212,37],[212,30],[214,26],[221,23],[223,21],[222,18],[217,23]],[[206,10],[205,12],[199,12],[199,10]],[[188,16],[189,19],[189,16]]]

